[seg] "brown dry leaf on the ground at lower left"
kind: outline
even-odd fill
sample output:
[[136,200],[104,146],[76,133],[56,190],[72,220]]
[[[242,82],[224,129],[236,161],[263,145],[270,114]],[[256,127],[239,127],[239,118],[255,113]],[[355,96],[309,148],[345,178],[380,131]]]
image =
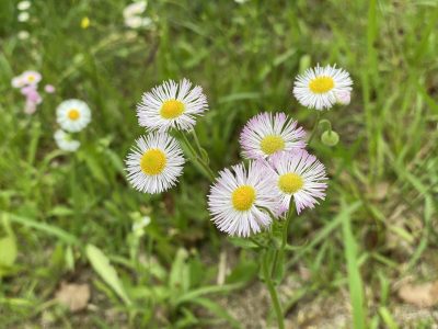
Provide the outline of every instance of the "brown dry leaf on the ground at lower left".
[[84,309],[90,300],[90,286],[87,283],[76,284],[62,282],[55,297],[71,311],[78,311]]

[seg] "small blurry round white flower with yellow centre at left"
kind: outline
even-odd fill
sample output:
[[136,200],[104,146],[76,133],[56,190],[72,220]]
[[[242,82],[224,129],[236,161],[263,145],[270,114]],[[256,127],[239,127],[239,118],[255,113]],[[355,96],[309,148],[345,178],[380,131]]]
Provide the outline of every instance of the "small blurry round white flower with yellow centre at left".
[[91,111],[83,101],[67,100],[58,105],[56,116],[62,129],[76,133],[88,126],[91,121]]

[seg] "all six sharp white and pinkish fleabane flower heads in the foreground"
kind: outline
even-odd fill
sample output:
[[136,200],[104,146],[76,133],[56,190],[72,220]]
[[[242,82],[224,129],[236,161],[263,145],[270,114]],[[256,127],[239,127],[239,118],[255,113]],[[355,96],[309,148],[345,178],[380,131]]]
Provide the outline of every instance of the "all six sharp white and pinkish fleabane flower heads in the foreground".
[[[297,77],[293,94],[310,109],[330,109],[349,103],[351,84],[345,70],[318,66]],[[186,79],[165,81],[142,95],[137,117],[150,134],[137,139],[126,159],[127,179],[135,189],[160,193],[176,184],[185,160],[178,141],[168,133],[180,131],[187,143],[184,132],[192,131],[207,110],[203,89],[192,88]],[[261,113],[246,123],[239,141],[245,161],[220,171],[208,195],[212,222],[221,231],[249,237],[289,215],[292,205],[300,214],[324,200],[325,167],[306,150],[306,132],[297,121],[285,113]]]

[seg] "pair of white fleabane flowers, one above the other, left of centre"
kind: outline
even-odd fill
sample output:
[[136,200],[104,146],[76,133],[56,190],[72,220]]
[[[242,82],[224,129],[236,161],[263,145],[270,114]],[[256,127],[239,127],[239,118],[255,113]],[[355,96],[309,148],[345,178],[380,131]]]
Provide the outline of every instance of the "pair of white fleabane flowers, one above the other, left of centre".
[[153,194],[176,184],[185,160],[180,143],[168,132],[193,128],[196,116],[207,110],[203,89],[192,88],[186,79],[165,81],[142,95],[137,117],[149,135],[137,139],[126,159],[128,181],[135,189]]

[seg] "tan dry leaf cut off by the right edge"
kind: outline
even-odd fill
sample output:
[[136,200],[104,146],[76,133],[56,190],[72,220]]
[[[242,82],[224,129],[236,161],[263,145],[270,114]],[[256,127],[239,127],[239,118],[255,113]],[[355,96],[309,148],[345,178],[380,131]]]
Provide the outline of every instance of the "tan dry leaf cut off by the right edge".
[[438,281],[405,284],[399,290],[399,297],[418,307],[431,307],[438,304]]

